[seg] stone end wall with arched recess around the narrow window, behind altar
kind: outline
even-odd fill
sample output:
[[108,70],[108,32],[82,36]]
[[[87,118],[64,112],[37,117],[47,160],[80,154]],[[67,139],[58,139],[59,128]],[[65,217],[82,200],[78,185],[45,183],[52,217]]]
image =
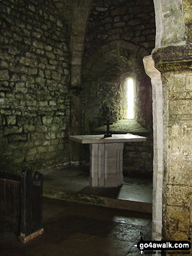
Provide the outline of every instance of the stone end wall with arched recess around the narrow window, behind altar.
[[[93,26],[95,24],[95,29],[99,30],[97,25],[103,19],[102,15],[108,17],[113,12],[111,14],[98,13],[98,16],[94,17],[95,6],[97,6],[96,2],[93,3],[88,20],[84,44],[81,77],[83,89],[82,134],[104,134],[106,126],[104,127],[103,124],[109,119],[110,122],[114,123],[110,126],[112,133],[134,133],[148,137],[148,141],[145,143],[125,143],[124,169],[127,169],[127,172],[152,174],[152,85],[145,74],[142,61],[143,57],[149,54],[148,49],[152,41],[149,43],[148,39],[145,38],[146,42],[148,41],[146,44],[138,44],[133,38],[130,40],[123,39],[125,35],[118,33],[115,39],[111,35],[114,30],[108,30],[107,27],[104,27],[101,28],[101,31],[105,30],[108,37],[103,43],[100,43],[100,39],[95,37]],[[116,19],[114,17],[111,19],[116,26]],[[123,14],[121,19],[124,19]],[[146,23],[151,23],[151,21],[148,20]],[[142,31],[144,27],[140,25]],[[94,47],[92,47],[91,38],[97,41]],[[146,47],[147,45],[148,47]],[[127,119],[128,79],[133,79],[134,85],[133,115],[131,116],[133,119]],[[88,146],[83,145],[81,147],[80,158],[89,162]]]

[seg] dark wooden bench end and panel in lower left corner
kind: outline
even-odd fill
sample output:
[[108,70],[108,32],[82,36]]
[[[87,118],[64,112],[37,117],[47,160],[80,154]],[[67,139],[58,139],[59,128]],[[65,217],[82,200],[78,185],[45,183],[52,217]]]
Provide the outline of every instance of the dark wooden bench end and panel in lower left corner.
[[26,243],[43,234],[43,175],[24,168],[21,175],[0,172],[0,230]]

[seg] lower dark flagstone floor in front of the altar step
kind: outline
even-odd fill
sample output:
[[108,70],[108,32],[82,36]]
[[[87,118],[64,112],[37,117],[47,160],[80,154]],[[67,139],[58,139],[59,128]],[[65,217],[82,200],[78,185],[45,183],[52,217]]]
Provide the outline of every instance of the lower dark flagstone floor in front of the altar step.
[[0,233],[2,256],[139,256],[151,239],[151,215],[44,198],[44,234],[23,244]]

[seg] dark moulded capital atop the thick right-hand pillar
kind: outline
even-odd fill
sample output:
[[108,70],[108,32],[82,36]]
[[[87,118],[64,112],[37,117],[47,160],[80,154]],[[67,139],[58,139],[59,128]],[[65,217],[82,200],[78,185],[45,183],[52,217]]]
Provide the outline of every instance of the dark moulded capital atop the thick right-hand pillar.
[[192,69],[192,45],[172,45],[152,51],[155,68],[160,72]]

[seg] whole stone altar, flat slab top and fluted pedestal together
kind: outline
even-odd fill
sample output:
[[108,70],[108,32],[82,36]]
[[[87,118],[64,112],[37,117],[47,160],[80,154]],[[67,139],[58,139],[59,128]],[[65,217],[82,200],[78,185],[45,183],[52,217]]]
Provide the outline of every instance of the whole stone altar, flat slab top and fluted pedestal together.
[[146,137],[127,134],[70,136],[70,140],[90,144],[92,187],[118,187],[123,184],[123,147],[125,142],[145,141]]

